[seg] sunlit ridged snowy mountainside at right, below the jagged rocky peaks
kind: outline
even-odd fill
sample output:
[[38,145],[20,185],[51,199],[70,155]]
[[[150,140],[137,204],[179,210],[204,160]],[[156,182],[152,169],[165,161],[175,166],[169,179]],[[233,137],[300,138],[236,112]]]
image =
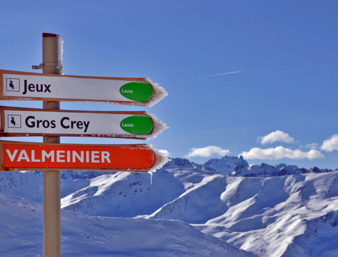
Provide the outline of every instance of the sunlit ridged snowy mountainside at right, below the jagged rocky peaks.
[[[337,172],[229,177],[227,189],[220,195],[228,211],[196,227],[259,256],[298,256],[297,252],[307,252],[299,256],[318,256],[315,252],[325,252],[325,235],[331,238],[327,232],[338,233],[332,226],[338,210],[337,177]],[[321,226],[317,220],[326,215],[334,217],[326,227]],[[318,246],[309,247],[311,241]],[[338,244],[328,250],[337,255]]]

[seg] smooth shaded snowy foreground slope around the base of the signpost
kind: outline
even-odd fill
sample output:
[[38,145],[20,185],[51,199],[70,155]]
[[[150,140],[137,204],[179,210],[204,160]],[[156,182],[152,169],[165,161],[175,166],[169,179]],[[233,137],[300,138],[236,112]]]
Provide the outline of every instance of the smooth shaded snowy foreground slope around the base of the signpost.
[[[0,193],[0,255],[42,256],[42,206]],[[61,212],[61,255],[253,256],[187,223]]]

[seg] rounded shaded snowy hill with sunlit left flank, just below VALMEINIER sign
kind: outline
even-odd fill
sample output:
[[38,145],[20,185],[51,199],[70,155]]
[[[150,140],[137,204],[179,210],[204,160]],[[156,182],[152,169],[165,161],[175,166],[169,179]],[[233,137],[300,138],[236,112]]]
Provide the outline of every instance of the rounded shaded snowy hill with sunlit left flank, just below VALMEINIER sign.
[[[152,182],[152,183],[151,183]],[[61,208],[93,216],[135,217],[151,214],[177,198],[184,186],[167,171],[153,174],[111,173],[61,199]]]

